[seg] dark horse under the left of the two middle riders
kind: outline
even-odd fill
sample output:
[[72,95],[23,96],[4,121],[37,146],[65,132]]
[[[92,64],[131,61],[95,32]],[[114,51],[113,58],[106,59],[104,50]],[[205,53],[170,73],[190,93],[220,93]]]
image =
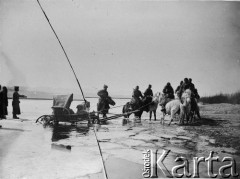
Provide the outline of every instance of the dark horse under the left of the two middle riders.
[[133,112],[134,116],[141,119],[143,111],[146,111],[146,112],[149,111],[149,105],[151,104],[151,101],[152,101],[151,97],[144,98],[143,100],[132,98],[130,102],[127,102],[123,106],[122,113],[123,114],[127,113],[126,115],[124,115],[124,117],[129,118],[129,116],[131,115],[131,112],[135,111]]

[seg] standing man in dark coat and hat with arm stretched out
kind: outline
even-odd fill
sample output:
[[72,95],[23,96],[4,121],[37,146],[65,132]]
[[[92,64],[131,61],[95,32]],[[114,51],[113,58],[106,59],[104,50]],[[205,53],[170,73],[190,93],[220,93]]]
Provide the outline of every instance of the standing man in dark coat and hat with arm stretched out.
[[20,97],[26,98],[26,96],[18,94],[18,91],[19,91],[18,86],[15,86],[14,90],[15,90],[15,92],[13,93],[13,101],[12,101],[13,119],[19,119],[19,117],[17,117],[17,114],[21,114],[20,105],[19,105],[19,103],[20,103],[19,98]]

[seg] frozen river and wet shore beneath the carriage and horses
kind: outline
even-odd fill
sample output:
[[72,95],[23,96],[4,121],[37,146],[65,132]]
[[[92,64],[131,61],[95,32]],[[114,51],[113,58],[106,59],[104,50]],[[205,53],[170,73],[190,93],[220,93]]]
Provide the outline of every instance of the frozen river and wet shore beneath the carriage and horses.
[[[89,101],[91,110],[96,110],[97,99]],[[116,106],[127,101],[116,100]],[[76,111],[80,103],[73,101],[71,108]],[[52,113],[51,106],[52,100],[21,100],[20,119],[13,120],[9,115],[0,121],[0,178],[105,178],[93,127],[63,123],[44,128],[35,123],[39,116]],[[109,112],[121,113],[121,107]],[[192,172],[193,157],[207,158],[214,151],[220,160],[233,157],[240,173],[239,105],[203,105],[201,114],[203,120],[191,126],[178,126],[176,121],[171,126],[161,125],[160,109],[157,121],[149,121],[149,114],[144,112],[141,123],[131,118],[123,125],[121,117],[95,125],[108,178],[143,178],[143,151],[147,149],[158,149],[159,156],[163,150],[171,150],[164,160],[170,172],[179,164],[175,162],[178,156],[186,157]],[[215,162],[213,168],[219,178],[222,165]],[[165,177],[160,169],[157,171],[158,177]],[[199,171],[200,177],[209,177],[207,162],[200,164]]]

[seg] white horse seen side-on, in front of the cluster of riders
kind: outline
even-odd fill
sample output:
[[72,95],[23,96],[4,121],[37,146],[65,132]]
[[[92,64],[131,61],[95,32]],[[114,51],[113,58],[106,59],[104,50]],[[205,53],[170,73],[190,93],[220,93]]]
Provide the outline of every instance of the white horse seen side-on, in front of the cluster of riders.
[[169,99],[166,98],[164,94],[159,93],[159,105],[162,106],[164,104],[166,104],[166,112],[163,112],[163,117],[161,118],[162,124],[164,124],[164,118],[166,114],[170,115],[171,118],[168,125],[171,124],[177,113],[180,114],[180,118],[184,116],[183,104],[179,99]]

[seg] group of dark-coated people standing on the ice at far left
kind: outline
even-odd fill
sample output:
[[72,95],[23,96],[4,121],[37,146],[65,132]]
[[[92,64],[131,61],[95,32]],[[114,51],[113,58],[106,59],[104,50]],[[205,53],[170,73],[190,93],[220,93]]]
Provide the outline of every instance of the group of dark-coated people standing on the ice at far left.
[[[19,119],[17,115],[21,114],[19,98],[26,97],[25,95],[20,95],[18,91],[19,87],[15,86],[12,98],[13,119]],[[6,119],[7,115],[8,115],[8,89],[6,86],[2,88],[0,85],[0,119]]]

